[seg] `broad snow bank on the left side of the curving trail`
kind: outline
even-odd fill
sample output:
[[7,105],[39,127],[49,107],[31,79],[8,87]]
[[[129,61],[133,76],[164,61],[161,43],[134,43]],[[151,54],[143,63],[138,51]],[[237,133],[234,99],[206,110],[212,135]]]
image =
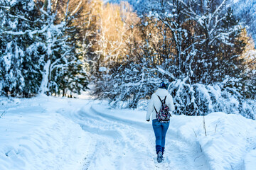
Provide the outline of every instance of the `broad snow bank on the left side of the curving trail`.
[[[0,98],[0,169],[82,169],[90,136],[42,106],[46,98]],[[56,101],[48,101],[60,107]],[[57,107],[56,107],[57,108]]]

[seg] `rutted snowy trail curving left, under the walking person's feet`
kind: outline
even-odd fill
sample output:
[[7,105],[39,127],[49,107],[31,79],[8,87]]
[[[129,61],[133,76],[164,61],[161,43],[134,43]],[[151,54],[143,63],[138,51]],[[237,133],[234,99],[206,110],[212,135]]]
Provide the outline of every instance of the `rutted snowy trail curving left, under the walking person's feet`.
[[171,129],[166,137],[164,162],[157,163],[151,124],[134,123],[96,110],[88,104],[70,113],[92,138],[83,169],[208,169],[200,147],[178,138]]

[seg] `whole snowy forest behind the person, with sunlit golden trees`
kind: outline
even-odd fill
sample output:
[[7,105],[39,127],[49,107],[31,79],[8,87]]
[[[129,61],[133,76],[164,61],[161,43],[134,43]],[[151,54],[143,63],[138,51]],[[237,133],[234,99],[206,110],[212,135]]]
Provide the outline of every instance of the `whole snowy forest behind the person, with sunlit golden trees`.
[[255,119],[255,16],[252,6],[242,14],[238,6],[0,0],[0,96],[76,98],[90,90],[112,107],[146,109],[166,81],[176,115]]

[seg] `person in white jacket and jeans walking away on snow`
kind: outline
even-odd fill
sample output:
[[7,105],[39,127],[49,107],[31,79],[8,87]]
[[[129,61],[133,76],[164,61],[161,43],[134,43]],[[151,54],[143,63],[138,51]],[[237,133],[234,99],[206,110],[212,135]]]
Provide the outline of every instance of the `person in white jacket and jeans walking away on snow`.
[[174,101],[167,88],[168,84],[161,82],[159,89],[151,96],[146,113],[146,121],[149,121],[152,115],[152,126],[156,136],[157,162],[159,163],[163,160],[166,132],[170,124],[169,118],[171,112],[174,111]]

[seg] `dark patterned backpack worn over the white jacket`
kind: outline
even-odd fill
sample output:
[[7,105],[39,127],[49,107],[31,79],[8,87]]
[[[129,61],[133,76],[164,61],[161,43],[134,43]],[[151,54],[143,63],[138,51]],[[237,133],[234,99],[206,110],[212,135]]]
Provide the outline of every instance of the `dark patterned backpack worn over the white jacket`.
[[[159,96],[158,96],[159,97]],[[162,101],[159,97],[159,100],[161,101],[161,108],[160,111],[157,112],[156,108],[154,107],[156,111],[156,119],[159,120],[159,122],[169,122],[171,113],[169,113],[169,107],[166,105],[166,96],[164,97],[164,100]]]

